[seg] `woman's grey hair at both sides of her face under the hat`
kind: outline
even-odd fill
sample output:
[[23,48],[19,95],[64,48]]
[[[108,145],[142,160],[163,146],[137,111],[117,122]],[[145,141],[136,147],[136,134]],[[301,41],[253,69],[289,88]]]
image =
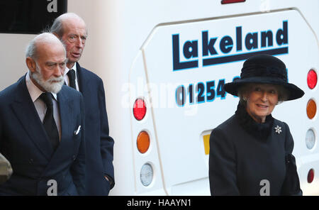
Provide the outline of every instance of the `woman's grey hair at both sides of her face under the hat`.
[[[252,89],[252,84],[253,83],[248,83],[248,84],[242,84],[242,86],[240,86],[238,88],[237,91],[237,96],[240,98],[240,103],[241,104],[246,104],[247,103],[247,99],[244,100],[244,94],[248,93],[251,91]],[[280,86],[280,85],[276,85],[274,84],[274,87],[276,88],[277,92],[278,92],[278,104],[281,104],[282,102],[286,101],[289,98],[289,92],[286,90],[286,88]]]

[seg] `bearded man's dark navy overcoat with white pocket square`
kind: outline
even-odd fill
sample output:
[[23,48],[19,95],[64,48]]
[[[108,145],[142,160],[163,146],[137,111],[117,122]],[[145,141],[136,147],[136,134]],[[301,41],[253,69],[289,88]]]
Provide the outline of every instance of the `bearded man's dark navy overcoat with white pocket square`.
[[53,150],[26,87],[26,77],[0,92],[0,153],[13,169],[11,178],[0,185],[0,195],[47,195],[52,180],[57,184],[57,195],[84,195],[82,94],[63,85],[57,103],[62,133],[59,146]]

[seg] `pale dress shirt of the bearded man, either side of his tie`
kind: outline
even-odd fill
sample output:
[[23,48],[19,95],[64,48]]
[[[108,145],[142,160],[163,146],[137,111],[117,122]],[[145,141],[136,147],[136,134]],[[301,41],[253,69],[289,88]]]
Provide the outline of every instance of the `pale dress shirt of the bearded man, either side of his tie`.
[[[30,94],[30,97],[33,101],[33,104],[35,106],[35,109],[38,111],[38,115],[40,117],[41,122],[43,123],[43,120],[45,118],[45,112],[47,111],[47,105],[45,102],[40,99],[40,95],[43,94],[43,92],[38,89],[38,87],[33,84],[32,80],[30,79],[30,72],[26,74],[26,86],[28,89],[28,92]],[[59,139],[61,140],[61,123],[60,123],[60,111],[59,106],[57,104],[57,94],[52,93],[54,100],[52,100],[53,103],[53,118],[55,118],[55,124],[57,125],[57,131],[59,132]]]

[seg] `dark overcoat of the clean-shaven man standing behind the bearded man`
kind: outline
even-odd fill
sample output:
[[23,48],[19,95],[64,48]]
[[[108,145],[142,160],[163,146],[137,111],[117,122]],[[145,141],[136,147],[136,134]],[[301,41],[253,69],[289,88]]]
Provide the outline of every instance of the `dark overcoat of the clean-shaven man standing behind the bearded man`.
[[[114,186],[114,140],[108,135],[103,81],[78,62],[76,65],[85,107],[86,195],[108,195]],[[108,176],[111,183],[104,176]]]

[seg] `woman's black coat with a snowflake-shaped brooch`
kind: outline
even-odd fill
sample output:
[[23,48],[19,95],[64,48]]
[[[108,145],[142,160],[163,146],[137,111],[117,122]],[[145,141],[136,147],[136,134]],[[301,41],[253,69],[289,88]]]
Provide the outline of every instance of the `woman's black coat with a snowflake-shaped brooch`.
[[285,156],[293,151],[289,126],[271,115],[262,125],[244,112],[237,110],[211,132],[211,194],[260,195],[265,186],[262,180],[267,180],[269,194],[280,195],[286,177]]

